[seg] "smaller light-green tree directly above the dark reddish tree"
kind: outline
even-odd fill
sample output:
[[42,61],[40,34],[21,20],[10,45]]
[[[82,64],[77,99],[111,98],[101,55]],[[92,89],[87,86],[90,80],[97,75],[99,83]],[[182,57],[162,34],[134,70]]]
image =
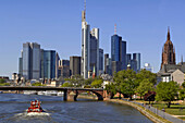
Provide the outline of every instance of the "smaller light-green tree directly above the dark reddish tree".
[[137,87],[136,93],[139,94],[140,99],[141,99],[141,97],[144,97],[145,94],[147,94],[149,90],[153,90],[153,83],[150,83],[148,78],[145,78],[139,83],[139,86]]

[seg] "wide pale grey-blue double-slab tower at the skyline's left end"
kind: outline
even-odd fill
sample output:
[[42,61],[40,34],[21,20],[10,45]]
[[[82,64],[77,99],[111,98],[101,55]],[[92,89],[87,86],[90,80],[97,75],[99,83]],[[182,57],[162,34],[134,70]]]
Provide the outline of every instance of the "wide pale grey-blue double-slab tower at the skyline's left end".
[[40,77],[40,45],[36,42],[23,44],[23,76],[26,79]]

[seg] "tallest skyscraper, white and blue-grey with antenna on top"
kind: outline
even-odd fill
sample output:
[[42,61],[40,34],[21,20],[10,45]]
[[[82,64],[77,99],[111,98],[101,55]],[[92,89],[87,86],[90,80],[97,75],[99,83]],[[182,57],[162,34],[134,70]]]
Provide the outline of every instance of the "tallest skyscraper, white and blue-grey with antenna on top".
[[[96,75],[101,73],[99,66],[99,28],[92,28],[90,30],[90,25],[86,22],[86,0],[84,3],[84,11],[82,12],[82,67],[81,75],[84,78],[88,78],[88,72],[96,70]],[[102,49],[101,49],[102,51]]]

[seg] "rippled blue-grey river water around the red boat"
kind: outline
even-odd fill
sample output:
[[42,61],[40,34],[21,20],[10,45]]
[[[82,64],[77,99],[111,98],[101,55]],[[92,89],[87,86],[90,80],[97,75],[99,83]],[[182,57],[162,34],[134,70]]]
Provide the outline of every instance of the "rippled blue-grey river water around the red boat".
[[[34,99],[40,100],[49,115],[26,115]],[[62,97],[0,94],[0,123],[152,123],[136,109],[111,102],[78,99],[63,101]]]

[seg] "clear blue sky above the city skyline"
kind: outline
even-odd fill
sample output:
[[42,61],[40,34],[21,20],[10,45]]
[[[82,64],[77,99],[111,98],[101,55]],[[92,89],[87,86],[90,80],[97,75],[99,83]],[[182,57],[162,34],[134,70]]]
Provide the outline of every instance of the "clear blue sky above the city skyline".
[[[18,70],[22,45],[36,41],[57,50],[61,59],[81,56],[81,15],[84,0],[0,0],[0,76]],[[100,47],[110,53],[114,24],[127,41],[127,52],[141,53],[159,71],[168,26],[176,51],[184,56],[185,1],[87,0],[87,22],[100,28]]]

